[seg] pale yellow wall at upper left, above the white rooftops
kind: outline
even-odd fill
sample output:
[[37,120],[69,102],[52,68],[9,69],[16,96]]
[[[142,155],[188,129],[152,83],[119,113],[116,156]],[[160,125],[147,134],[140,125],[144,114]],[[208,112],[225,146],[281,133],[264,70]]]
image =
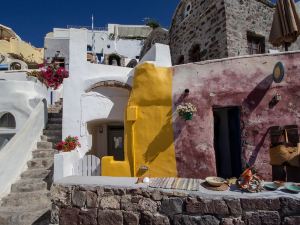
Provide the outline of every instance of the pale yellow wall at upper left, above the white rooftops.
[[44,59],[44,49],[35,48],[15,38],[11,38],[10,41],[0,40],[0,53],[22,54],[26,60],[35,63],[43,63]]

